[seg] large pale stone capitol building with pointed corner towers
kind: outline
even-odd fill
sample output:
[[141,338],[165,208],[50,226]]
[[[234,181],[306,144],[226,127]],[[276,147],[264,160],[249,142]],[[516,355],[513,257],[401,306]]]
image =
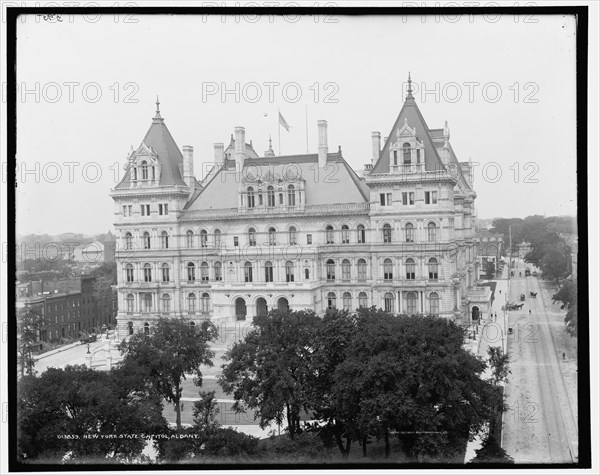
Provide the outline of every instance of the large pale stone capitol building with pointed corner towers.
[[199,182],[156,115],[111,190],[117,332],[159,316],[251,320],[270,309],[435,314],[471,323],[478,276],[473,177],[450,132],[430,129],[409,86],[389,137],[358,174],[330,150],[260,156],[235,127]]

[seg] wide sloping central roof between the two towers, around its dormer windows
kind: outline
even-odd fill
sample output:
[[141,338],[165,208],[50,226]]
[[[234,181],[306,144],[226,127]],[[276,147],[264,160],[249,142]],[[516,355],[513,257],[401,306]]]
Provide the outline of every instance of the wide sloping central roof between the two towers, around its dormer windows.
[[[358,178],[341,153],[327,154],[328,166],[325,168],[318,168],[318,162],[317,154],[248,158],[244,161],[242,177],[260,178],[266,187],[267,182],[274,180],[277,183],[279,178],[285,180],[286,172],[294,171],[297,178],[292,182],[304,180],[307,205],[369,201],[368,186]],[[186,210],[237,208],[240,178],[235,163],[233,165],[211,173],[202,192],[188,203]]]

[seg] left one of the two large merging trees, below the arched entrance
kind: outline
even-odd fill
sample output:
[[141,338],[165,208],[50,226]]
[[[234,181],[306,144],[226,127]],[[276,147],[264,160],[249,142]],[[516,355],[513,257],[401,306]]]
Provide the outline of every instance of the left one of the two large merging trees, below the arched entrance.
[[310,355],[321,319],[312,311],[279,312],[254,318],[252,330],[224,356],[219,384],[243,406],[256,410],[260,426],[287,420],[289,436],[301,432],[300,411],[308,409]]

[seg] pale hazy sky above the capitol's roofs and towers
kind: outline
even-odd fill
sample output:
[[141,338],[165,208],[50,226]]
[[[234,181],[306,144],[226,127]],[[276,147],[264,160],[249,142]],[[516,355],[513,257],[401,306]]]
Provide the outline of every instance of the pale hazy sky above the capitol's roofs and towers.
[[[430,128],[448,121],[475,167],[480,218],[576,214],[575,22],[504,15],[103,15],[18,26],[17,232],[100,233],[110,189],[155,110],[194,147],[198,178],[236,125],[262,155],[330,151],[362,168],[387,136],[408,72]],[[423,94],[423,89],[429,91]],[[25,93],[25,91],[29,91]],[[228,94],[222,94],[229,91]],[[24,174],[24,169],[28,173]],[[500,174],[500,175],[499,175]]]

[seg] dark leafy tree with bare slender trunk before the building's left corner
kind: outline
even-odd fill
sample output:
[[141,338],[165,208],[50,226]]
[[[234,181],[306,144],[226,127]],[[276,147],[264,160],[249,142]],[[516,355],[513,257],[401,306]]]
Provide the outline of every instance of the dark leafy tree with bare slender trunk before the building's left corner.
[[141,377],[168,402],[175,405],[177,430],[181,430],[182,382],[194,374],[194,384],[202,385],[201,366],[212,366],[214,352],[209,344],[217,337],[210,322],[200,327],[187,318],[159,318],[149,335],[138,332],[123,341],[121,366],[139,372]]

